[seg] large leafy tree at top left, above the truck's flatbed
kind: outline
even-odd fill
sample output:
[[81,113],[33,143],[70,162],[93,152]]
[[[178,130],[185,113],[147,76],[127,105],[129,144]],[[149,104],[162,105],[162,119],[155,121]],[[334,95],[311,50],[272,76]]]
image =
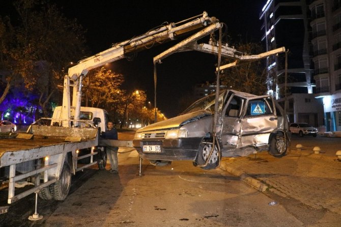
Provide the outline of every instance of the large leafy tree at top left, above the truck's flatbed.
[[47,115],[46,104],[62,84],[62,68],[84,55],[84,31],[76,20],[65,18],[55,5],[44,0],[17,0],[19,18],[13,26],[7,16],[0,18],[0,67],[6,69],[4,100],[14,80],[39,94],[39,104]]

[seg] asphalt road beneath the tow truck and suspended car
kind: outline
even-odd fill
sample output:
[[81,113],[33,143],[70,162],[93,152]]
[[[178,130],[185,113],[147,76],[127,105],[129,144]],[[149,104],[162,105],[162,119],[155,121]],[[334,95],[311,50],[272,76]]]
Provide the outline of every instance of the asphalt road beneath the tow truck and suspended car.
[[[120,139],[131,136],[119,134]],[[293,137],[292,143],[320,145],[323,150],[337,148],[335,141],[339,140]],[[144,160],[139,176],[136,151],[120,152],[118,175],[86,169],[72,178],[65,201],[38,201],[43,219],[27,219],[34,213],[34,195],[30,195],[0,215],[0,226],[337,226],[337,222],[314,222],[313,216],[337,219],[332,213],[259,192],[219,168],[204,171],[190,161],[153,166]],[[273,201],[277,205],[270,206]]]

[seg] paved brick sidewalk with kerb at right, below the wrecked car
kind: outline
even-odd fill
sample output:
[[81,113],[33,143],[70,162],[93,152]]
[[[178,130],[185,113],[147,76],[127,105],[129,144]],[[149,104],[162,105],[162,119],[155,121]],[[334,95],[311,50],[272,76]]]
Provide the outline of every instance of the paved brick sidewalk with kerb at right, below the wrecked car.
[[341,162],[335,156],[296,150],[282,158],[267,152],[247,157],[223,158],[220,168],[259,191],[270,190],[303,204],[341,214]]

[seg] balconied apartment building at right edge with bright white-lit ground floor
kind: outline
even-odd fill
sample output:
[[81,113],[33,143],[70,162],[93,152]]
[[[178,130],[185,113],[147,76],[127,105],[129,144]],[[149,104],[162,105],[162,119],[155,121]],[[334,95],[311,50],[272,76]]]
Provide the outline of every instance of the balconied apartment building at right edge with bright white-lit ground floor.
[[323,101],[327,131],[341,130],[341,0],[309,1],[315,97]]

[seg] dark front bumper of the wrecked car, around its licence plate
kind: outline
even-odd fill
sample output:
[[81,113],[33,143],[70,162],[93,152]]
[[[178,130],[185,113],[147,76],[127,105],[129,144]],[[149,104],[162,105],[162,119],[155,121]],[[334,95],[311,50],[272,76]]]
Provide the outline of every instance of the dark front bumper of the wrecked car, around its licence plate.
[[[141,158],[149,160],[195,160],[202,138],[133,140]],[[144,145],[159,145],[160,152],[144,152]]]

